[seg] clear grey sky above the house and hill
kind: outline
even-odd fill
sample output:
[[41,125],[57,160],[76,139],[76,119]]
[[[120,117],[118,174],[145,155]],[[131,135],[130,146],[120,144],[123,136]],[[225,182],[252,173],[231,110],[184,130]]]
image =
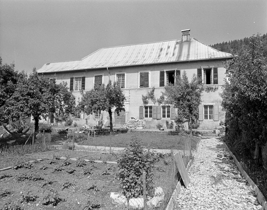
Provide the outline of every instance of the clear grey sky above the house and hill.
[[31,73],[99,48],[267,34],[267,0],[0,0],[0,57]]

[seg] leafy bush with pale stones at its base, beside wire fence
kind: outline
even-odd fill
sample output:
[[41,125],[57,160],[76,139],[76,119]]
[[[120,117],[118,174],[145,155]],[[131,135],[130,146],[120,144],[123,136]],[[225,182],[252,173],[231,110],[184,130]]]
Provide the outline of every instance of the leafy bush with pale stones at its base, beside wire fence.
[[148,196],[153,195],[154,175],[151,167],[158,161],[158,156],[151,152],[144,152],[140,140],[135,136],[125,148],[117,163],[122,193],[127,198],[137,198],[143,193],[143,172],[147,172],[146,181],[151,183],[147,189]]

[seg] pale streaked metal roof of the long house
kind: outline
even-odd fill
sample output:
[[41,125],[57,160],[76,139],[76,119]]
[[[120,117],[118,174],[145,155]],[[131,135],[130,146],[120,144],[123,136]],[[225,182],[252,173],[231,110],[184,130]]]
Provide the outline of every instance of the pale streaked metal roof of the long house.
[[180,61],[231,58],[194,38],[101,48],[81,60],[46,63],[38,73],[55,73]]

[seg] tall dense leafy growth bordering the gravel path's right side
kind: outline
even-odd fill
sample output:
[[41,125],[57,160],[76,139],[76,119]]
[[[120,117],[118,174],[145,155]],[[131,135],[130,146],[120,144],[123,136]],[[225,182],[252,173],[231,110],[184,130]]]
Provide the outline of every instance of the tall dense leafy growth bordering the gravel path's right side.
[[245,156],[261,164],[261,148],[267,140],[267,65],[259,34],[226,63],[222,107],[226,111],[227,140]]

